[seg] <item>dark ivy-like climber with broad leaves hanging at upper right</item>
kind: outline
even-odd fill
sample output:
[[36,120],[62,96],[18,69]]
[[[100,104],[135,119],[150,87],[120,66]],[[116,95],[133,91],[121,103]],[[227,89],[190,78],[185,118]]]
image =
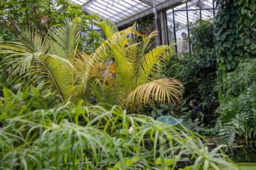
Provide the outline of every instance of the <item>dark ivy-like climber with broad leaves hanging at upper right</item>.
[[218,65],[218,91],[222,99],[222,82],[226,73],[234,71],[239,62],[255,58],[256,0],[217,0],[214,19]]

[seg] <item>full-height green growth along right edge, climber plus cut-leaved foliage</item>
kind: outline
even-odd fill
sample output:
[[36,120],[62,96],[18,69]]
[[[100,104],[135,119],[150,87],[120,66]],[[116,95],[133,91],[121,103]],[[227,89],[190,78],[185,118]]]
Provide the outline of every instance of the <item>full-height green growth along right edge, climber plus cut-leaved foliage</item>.
[[217,1],[214,21],[218,54],[218,89],[222,143],[255,138],[256,1]]

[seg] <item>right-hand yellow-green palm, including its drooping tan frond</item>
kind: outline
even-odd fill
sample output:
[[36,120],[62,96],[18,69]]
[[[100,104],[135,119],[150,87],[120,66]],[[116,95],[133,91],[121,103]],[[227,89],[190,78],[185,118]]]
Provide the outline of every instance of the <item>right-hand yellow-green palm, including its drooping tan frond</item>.
[[[154,101],[168,104],[179,102],[183,85],[175,79],[160,79],[162,65],[172,55],[172,46],[157,46],[150,50],[152,39],[158,32],[143,36],[133,30],[135,25],[119,32],[108,19],[100,22],[100,26],[107,38],[100,46],[100,60],[115,58],[116,73],[111,79],[115,83],[110,85],[115,89],[116,103],[134,107],[153,104]],[[127,38],[131,34],[141,37],[141,42],[134,43],[132,38]],[[103,82],[106,79],[109,77],[104,77]]]

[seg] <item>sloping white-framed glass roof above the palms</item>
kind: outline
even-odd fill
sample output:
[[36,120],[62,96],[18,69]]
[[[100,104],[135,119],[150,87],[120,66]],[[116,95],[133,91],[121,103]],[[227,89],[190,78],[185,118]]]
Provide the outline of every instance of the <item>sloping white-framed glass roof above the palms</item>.
[[86,13],[98,13],[103,19],[111,19],[117,26],[123,26],[140,17],[153,13],[153,7],[164,9],[187,0],[69,0],[82,5]]

